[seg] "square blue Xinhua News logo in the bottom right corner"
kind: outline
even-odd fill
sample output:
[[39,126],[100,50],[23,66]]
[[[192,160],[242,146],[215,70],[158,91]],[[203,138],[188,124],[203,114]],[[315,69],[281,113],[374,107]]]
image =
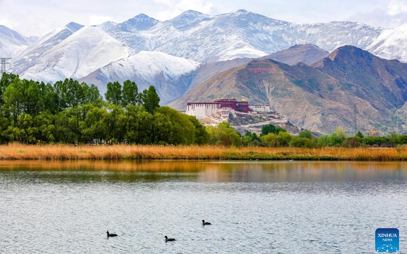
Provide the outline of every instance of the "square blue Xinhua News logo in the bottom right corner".
[[398,229],[376,229],[376,251],[399,251]]

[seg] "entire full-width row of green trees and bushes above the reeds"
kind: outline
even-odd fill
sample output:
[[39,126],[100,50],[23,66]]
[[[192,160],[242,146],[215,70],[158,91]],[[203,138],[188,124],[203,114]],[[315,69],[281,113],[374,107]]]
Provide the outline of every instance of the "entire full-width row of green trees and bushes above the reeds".
[[154,86],[138,92],[126,80],[98,87],[65,79],[54,84],[20,79],[3,73],[0,80],[0,143],[127,143],[213,144],[266,147],[394,147],[407,144],[407,136],[355,137],[337,128],[331,135],[313,137],[305,130],[298,136],[268,124],[257,136],[235,132],[229,123],[205,128],[193,117],[160,107]]

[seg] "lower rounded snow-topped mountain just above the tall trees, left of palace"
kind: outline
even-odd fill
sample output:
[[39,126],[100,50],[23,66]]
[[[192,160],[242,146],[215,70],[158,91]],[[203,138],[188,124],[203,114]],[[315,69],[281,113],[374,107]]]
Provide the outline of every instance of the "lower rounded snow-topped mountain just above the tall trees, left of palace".
[[137,83],[139,91],[154,85],[161,103],[182,96],[188,90],[193,71],[198,62],[161,52],[140,51],[128,58],[115,61],[81,78],[80,82],[96,84],[101,93],[106,92],[106,84],[112,80],[130,79]]

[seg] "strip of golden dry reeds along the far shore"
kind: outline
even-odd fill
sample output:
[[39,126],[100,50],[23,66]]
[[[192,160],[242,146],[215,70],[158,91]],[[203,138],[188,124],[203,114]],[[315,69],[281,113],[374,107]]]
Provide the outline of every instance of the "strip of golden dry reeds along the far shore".
[[0,145],[0,160],[407,161],[406,148],[268,148],[157,145]]

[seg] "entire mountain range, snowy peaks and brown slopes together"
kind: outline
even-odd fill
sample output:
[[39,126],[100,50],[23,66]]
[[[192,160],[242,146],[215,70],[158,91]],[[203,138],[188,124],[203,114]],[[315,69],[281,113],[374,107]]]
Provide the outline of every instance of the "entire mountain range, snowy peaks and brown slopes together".
[[[102,93],[108,82],[131,79],[140,90],[155,85],[162,104],[180,110],[188,100],[245,96],[273,105],[303,128],[329,133],[338,124],[354,129],[355,115],[358,129],[390,124],[389,115],[405,102],[404,67],[396,68],[404,64],[385,59],[407,61],[405,31],[407,24],[295,24],[245,10],[216,16],[187,11],[163,22],[144,14],[96,26],[71,22],[41,38],[0,25],[0,54],[12,57],[9,71],[22,78],[72,77]],[[360,65],[370,58],[371,64]],[[276,72],[242,74],[256,65]]]

